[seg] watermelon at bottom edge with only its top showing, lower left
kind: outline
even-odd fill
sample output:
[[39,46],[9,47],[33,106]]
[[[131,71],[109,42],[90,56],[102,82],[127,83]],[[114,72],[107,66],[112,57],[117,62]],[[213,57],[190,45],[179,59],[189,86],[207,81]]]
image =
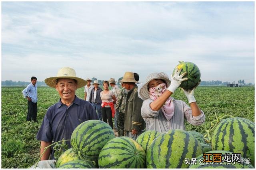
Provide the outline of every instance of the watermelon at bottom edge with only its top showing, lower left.
[[80,168],[80,169],[95,169],[96,167],[92,164],[92,162],[86,161],[86,160],[72,160],[69,162],[66,162],[65,164],[59,166],[61,169],[74,169],[74,168]]

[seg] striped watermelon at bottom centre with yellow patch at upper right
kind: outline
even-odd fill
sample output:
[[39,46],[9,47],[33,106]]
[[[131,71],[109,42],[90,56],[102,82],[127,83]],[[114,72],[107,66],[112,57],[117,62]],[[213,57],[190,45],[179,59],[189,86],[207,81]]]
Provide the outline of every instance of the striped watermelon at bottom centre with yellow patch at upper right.
[[98,164],[100,168],[145,168],[146,153],[130,137],[116,137],[102,148]]

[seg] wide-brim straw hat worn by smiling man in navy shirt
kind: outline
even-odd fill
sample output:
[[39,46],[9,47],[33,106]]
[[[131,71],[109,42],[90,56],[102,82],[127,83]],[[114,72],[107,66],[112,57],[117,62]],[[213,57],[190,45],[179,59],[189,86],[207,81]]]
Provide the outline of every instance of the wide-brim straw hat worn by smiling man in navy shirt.
[[58,78],[70,78],[70,79],[76,80],[77,81],[77,88],[84,87],[87,84],[87,81],[82,79],[82,78],[77,77],[76,76],[76,71],[73,68],[70,68],[70,67],[60,68],[56,77],[46,78],[44,80],[44,82],[48,86],[50,86],[52,88],[56,88]]

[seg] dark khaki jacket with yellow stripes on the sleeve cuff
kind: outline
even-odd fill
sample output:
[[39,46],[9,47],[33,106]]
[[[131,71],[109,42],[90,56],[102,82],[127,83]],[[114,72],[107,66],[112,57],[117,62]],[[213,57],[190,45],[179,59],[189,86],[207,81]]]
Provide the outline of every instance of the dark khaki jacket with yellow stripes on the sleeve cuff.
[[138,86],[135,85],[127,94],[124,119],[125,131],[132,131],[132,129],[142,131],[145,129],[146,123],[140,114],[142,103],[143,100],[138,97]]

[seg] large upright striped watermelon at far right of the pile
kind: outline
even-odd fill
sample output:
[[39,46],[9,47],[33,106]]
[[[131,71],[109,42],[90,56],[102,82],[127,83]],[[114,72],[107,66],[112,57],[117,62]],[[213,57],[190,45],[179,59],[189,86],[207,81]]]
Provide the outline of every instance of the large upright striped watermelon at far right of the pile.
[[241,117],[223,119],[212,133],[212,150],[241,153],[254,165],[254,123]]

